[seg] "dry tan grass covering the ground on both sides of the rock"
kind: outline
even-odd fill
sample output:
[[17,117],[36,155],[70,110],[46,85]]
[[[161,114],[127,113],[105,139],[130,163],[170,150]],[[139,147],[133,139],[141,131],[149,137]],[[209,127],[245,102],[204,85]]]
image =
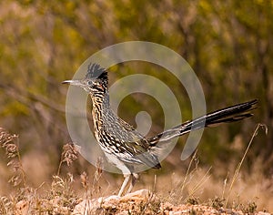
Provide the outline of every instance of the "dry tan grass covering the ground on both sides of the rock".
[[[258,128],[262,127],[258,125]],[[273,202],[273,183],[272,179],[264,177],[261,159],[257,160],[250,171],[251,174],[240,171],[258,128],[249,141],[248,148],[235,172],[227,174],[226,178],[213,177],[211,169],[214,167],[199,167],[197,152],[189,161],[186,174],[177,172],[158,178],[144,175],[136,185],[136,189],[147,189],[149,185],[153,192],[151,198],[141,202],[139,208],[135,207],[134,211],[137,210],[142,214],[147,214],[147,211],[157,213],[162,205],[165,207],[164,210],[167,210],[167,202],[172,205],[202,204],[216,210],[227,207],[245,213],[253,213],[257,210],[273,211],[273,206],[269,203]],[[8,188],[6,193],[10,194],[0,197],[0,214],[71,214],[80,201],[101,197],[106,192],[112,194],[118,189],[116,179],[111,179],[111,175],[103,174],[100,159],[97,160],[96,170],[93,173],[84,171],[76,175],[69,172],[73,162],[79,158],[75,145],[71,144],[63,147],[56,175],[52,176],[50,181],[42,181],[38,186],[31,186],[32,175],[24,169],[18,136],[0,128],[0,146],[5,149],[7,166],[12,172],[10,179],[1,182],[2,186],[4,182],[6,183],[4,184]],[[64,172],[61,174],[65,169],[64,166],[68,171],[66,174]],[[118,182],[119,180],[122,178],[118,179]],[[109,184],[112,184],[112,187]],[[107,186],[112,189],[103,191],[102,187]],[[153,198],[154,192],[160,197],[159,200]],[[105,211],[105,214],[107,212],[110,214],[111,211]]]

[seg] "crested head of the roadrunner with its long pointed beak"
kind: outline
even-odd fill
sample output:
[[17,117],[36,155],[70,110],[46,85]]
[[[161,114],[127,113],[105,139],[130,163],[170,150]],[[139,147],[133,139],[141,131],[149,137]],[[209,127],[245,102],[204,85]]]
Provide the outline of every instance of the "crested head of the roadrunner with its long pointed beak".
[[91,63],[88,66],[86,77],[84,79],[66,80],[62,83],[82,87],[87,93],[91,93],[92,95],[96,93],[106,93],[108,88],[107,71],[98,64]]

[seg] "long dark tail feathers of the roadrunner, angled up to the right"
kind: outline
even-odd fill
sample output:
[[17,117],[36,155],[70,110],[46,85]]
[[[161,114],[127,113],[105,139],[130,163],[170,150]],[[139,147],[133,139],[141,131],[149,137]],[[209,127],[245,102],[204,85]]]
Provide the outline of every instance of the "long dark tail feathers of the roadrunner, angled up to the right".
[[235,122],[243,118],[249,118],[253,115],[251,110],[257,108],[257,104],[258,100],[255,99],[232,107],[219,109],[217,111],[208,113],[203,117],[196,118],[194,120],[182,123],[174,128],[167,129],[166,131],[157,134],[153,138],[148,138],[147,141],[151,147],[154,147],[159,141],[168,141],[172,138],[185,135],[191,130],[197,130],[199,128],[216,125],[223,122]]

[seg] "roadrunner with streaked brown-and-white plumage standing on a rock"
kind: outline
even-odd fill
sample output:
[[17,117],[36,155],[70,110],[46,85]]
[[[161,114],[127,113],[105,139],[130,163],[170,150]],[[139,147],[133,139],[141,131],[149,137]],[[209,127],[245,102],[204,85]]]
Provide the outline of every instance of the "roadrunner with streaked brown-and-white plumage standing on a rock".
[[257,107],[258,100],[252,100],[232,107],[219,109],[207,115],[187,121],[174,128],[169,128],[152,138],[143,137],[135,128],[118,118],[111,109],[108,94],[108,78],[105,68],[90,64],[86,77],[81,80],[66,80],[64,84],[82,87],[92,99],[92,117],[95,138],[111,163],[124,174],[125,180],[118,192],[121,196],[131,179],[127,193],[136,184],[138,174],[136,165],[146,165],[160,169],[158,155],[154,150],[159,142],[167,142],[187,134],[191,130],[207,127],[222,122],[234,122],[252,116],[251,110]]

